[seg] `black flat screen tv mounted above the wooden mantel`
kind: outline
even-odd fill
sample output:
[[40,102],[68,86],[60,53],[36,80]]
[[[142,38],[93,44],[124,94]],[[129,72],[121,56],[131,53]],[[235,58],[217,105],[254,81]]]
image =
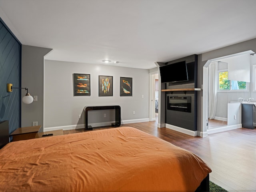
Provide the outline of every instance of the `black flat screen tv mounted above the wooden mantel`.
[[160,66],[161,82],[188,81],[186,61]]

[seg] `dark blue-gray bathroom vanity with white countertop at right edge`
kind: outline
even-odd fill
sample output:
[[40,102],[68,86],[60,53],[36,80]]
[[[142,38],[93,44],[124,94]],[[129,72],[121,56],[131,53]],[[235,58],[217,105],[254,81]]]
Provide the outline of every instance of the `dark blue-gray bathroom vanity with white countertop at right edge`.
[[254,129],[256,127],[256,103],[242,102],[242,127]]

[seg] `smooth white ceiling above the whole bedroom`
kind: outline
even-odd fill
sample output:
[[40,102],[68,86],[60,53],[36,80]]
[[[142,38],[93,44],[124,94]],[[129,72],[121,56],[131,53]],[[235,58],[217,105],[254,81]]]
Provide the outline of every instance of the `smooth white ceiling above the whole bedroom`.
[[48,60],[144,69],[256,38],[256,0],[0,0],[0,17]]

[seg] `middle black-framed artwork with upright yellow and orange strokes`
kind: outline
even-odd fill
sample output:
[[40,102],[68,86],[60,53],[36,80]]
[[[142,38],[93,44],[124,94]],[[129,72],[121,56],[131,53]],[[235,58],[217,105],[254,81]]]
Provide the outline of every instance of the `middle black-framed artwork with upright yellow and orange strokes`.
[[113,96],[113,76],[99,75],[99,96]]

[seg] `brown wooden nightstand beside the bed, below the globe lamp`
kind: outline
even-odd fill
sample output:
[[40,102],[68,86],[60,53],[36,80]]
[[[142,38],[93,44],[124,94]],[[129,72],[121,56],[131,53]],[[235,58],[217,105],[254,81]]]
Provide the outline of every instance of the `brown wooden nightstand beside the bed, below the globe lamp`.
[[14,132],[12,132],[10,136],[12,136],[12,141],[34,139],[40,128],[41,125],[31,127],[20,127],[16,129]]

